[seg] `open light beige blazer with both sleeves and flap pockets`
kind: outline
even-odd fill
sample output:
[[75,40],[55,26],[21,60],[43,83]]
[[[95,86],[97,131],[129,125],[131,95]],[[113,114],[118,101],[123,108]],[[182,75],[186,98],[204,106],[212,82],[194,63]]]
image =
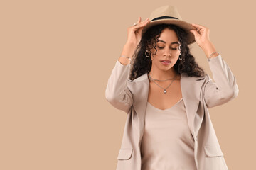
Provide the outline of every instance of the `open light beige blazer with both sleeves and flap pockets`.
[[[208,60],[206,58],[206,60]],[[186,107],[188,128],[195,141],[194,157],[198,170],[228,170],[208,108],[222,105],[238,96],[238,85],[221,55],[208,61],[213,73],[205,77],[181,74],[181,93]],[[105,97],[114,108],[127,113],[122,145],[117,156],[117,170],[141,170],[140,146],[144,132],[149,79],[143,74],[129,79],[131,64],[118,60],[107,82]]]

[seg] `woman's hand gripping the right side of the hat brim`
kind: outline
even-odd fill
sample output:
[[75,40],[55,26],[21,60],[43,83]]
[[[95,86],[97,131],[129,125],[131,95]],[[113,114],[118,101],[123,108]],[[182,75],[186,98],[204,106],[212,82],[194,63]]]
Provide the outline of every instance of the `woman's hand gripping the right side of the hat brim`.
[[191,25],[195,27],[196,30],[190,30],[190,32],[193,33],[193,35],[195,35],[195,39],[199,47],[203,48],[204,45],[207,45],[207,43],[210,42],[210,29],[195,23],[192,23]]

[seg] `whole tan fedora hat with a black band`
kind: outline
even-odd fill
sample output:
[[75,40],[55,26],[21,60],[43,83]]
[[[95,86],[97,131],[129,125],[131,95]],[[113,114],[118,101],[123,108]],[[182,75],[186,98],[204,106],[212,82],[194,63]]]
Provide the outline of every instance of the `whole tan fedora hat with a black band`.
[[188,33],[188,45],[196,42],[195,36],[189,30],[196,30],[191,23],[183,21],[181,15],[178,13],[176,6],[166,5],[156,8],[149,16],[150,23],[144,26],[142,34],[146,32],[151,26],[156,26],[161,23],[175,24],[183,28]]

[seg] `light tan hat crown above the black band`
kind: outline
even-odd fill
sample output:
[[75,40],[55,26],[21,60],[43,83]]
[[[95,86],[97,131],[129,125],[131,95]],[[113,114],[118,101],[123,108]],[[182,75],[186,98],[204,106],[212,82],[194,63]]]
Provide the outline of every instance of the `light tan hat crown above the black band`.
[[182,20],[181,15],[178,13],[178,9],[176,6],[166,5],[161,6],[159,8],[156,8],[154,11],[152,11],[151,15],[149,16],[150,21],[152,21],[155,18],[168,16],[168,17],[174,17],[178,18],[179,20]]

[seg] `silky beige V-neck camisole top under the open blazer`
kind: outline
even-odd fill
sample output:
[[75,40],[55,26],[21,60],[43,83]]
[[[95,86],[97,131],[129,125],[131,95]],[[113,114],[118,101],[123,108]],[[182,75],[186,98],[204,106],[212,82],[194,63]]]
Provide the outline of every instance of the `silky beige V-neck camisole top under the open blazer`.
[[196,170],[193,147],[183,98],[165,110],[147,102],[142,170]]

